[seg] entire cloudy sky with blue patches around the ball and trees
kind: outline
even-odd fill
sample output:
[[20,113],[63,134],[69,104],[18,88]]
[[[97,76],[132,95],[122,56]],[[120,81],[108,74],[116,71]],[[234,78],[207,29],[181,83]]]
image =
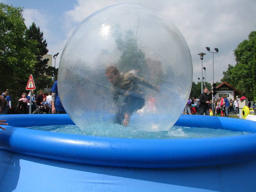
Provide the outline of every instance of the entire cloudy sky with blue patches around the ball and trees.
[[[255,0],[0,0],[23,7],[27,27],[34,21],[48,43],[48,54],[62,52],[69,36],[78,24],[93,12],[106,6],[130,3],[160,13],[172,21],[185,37],[193,62],[193,80],[201,77],[200,52],[204,56],[206,81],[212,81],[212,53],[205,47],[219,48],[214,54],[214,81],[220,81],[228,64],[235,65],[233,50],[256,30]],[[59,65],[60,56],[56,59]]]

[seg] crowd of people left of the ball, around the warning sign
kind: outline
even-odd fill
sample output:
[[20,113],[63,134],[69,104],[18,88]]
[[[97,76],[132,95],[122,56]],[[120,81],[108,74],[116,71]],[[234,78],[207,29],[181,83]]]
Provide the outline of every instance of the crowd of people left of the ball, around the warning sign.
[[[11,102],[10,91],[6,89],[2,95],[0,95],[0,115],[10,114],[14,107]],[[31,95],[31,96],[30,96]],[[31,98],[30,98],[31,97]],[[15,108],[17,114],[60,114],[66,113],[63,108],[57,89],[57,81],[52,86],[52,91],[44,92],[40,90],[35,95],[34,90],[31,90],[28,94],[23,92],[18,100],[18,104]]]

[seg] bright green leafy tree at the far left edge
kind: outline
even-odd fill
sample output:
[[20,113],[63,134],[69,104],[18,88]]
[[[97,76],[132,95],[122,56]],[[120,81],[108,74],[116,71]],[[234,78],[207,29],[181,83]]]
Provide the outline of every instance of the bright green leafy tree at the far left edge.
[[36,64],[36,42],[26,39],[22,8],[0,3],[0,90],[11,96],[25,92]]

